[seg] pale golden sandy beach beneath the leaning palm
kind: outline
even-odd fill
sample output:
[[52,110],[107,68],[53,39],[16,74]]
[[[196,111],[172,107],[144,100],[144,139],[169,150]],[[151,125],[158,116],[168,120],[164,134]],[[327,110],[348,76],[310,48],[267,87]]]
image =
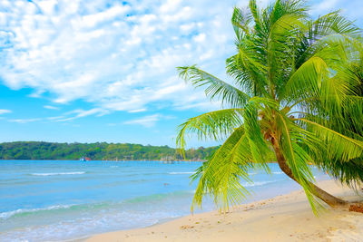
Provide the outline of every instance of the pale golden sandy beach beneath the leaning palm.
[[[321,181],[319,187],[349,201],[363,200],[333,180]],[[242,205],[226,214],[190,215],[152,227],[99,234],[85,241],[363,241],[363,214],[348,208],[327,208],[316,217],[304,192],[298,190]]]

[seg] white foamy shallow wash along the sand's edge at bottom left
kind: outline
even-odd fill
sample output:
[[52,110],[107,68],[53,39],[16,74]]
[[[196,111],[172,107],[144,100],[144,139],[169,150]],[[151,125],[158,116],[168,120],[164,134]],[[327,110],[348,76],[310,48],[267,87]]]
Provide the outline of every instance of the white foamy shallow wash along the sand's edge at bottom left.
[[[74,241],[74,238],[83,240],[90,234],[117,230],[120,227],[125,229],[149,227],[164,221],[165,218],[178,218],[184,214],[179,211],[94,213],[87,218],[74,218],[68,221],[8,230],[0,233],[0,241]],[[108,230],[105,230],[107,228]]]

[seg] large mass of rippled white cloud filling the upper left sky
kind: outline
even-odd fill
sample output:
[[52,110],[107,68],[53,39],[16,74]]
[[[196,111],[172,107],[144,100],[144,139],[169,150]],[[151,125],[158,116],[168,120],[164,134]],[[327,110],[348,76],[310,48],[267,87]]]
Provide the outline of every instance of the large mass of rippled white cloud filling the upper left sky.
[[[223,76],[233,51],[235,1],[3,2],[0,77],[12,89],[34,88],[34,97],[51,93],[53,102],[83,100],[108,111],[207,103],[175,67],[198,62]],[[192,92],[198,98],[185,103]]]

